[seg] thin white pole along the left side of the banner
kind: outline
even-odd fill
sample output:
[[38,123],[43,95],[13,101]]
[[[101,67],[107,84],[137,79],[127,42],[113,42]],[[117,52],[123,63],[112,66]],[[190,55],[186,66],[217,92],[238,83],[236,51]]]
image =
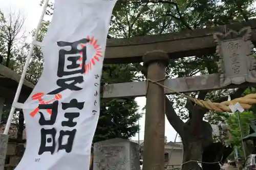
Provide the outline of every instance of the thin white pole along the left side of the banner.
[[[39,30],[40,30],[42,20],[44,19],[44,16],[45,16],[45,13],[46,13],[46,8],[47,8],[47,5],[48,5],[48,2],[49,2],[49,0],[46,0],[44,8],[42,9],[42,14],[41,14],[39,22],[37,24],[37,28],[36,28],[36,31],[35,31],[35,35],[33,37],[33,41],[36,41],[36,39],[37,39],[37,35],[38,35]],[[27,73],[27,69],[28,69],[28,66],[29,66],[29,61],[31,59],[33,50],[34,50],[34,45],[31,43],[30,44],[30,49],[29,49],[29,54],[28,54],[28,57],[26,59],[25,66],[23,68],[22,77],[19,80],[18,88],[17,88],[16,94],[14,96],[14,100],[13,100],[13,103],[12,103],[12,108],[11,108],[11,111],[10,111],[10,114],[8,116],[8,120],[7,120],[7,123],[6,123],[5,131],[4,131],[5,135],[8,135],[8,131],[9,131],[10,126],[11,126],[12,116],[13,116],[13,113],[15,111],[15,107],[13,107],[13,105],[18,102],[19,94],[20,94],[20,91],[22,90],[22,85],[23,85],[23,82],[24,82],[24,79],[25,79],[25,76],[26,76],[26,73]]]

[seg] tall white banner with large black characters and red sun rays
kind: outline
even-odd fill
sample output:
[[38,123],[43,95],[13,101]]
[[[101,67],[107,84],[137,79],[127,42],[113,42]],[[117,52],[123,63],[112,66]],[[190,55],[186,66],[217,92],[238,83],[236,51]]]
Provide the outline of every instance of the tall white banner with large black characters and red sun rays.
[[27,144],[15,170],[88,170],[106,36],[117,0],[55,0],[44,71],[24,104]]

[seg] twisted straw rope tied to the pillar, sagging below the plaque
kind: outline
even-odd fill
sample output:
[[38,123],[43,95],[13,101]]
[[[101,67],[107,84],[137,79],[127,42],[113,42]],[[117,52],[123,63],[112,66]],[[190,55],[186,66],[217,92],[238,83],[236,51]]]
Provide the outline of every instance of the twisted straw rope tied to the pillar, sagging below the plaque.
[[211,102],[211,101],[204,101],[204,100],[198,100],[198,99],[195,99],[195,98],[191,98],[188,95],[185,95],[185,94],[183,94],[181,92],[175,91],[174,89],[169,88],[169,87],[159,83],[159,81],[163,81],[163,80],[165,80],[165,79],[161,79],[161,80],[157,80],[157,81],[153,81],[151,79],[147,79],[147,82],[146,82],[147,83],[146,94],[147,94],[148,82],[151,82],[151,83],[155,83],[155,84],[157,84],[157,85],[159,85],[159,86],[161,86],[163,88],[168,89],[170,92],[174,92],[174,93],[180,94],[180,95],[184,96],[185,98],[187,98],[188,100],[196,103],[197,105],[199,105],[201,107],[204,107],[204,108],[207,108],[208,110],[211,110],[211,111],[232,113],[232,111],[229,108],[230,104],[239,103],[243,107],[243,109],[245,109],[245,110],[249,109],[252,104],[256,104],[256,93],[247,94],[247,95],[245,95],[245,96],[243,96],[241,98],[233,99],[231,101],[215,103],[215,102]]

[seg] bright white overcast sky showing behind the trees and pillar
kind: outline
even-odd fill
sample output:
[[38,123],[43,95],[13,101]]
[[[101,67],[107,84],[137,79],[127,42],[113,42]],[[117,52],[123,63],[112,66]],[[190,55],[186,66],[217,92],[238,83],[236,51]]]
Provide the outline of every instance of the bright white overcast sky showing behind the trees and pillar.
[[[23,30],[29,35],[29,32],[37,27],[38,20],[41,15],[42,7],[39,6],[40,0],[0,0],[0,9],[7,15],[11,12],[22,12],[25,16],[26,20],[24,23]],[[45,16],[45,20],[50,20],[49,16]],[[31,37],[27,38],[26,42],[29,42]],[[139,105],[139,112],[143,113],[142,108],[146,104],[145,97],[136,98],[136,101]],[[138,136],[140,140],[144,139],[144,122],[145,122],[145,114],[143,114],[142,118],[139,120],[140,125],[140,135],[136,134],[135,137],[132,137],[133,140],[138,140]],[[174,141],[176,136],[176,131],[169,124],[167,118],[165,117],[165,136],[167,136],[168,141]],[[180,141],[177,138],[176,141]]]

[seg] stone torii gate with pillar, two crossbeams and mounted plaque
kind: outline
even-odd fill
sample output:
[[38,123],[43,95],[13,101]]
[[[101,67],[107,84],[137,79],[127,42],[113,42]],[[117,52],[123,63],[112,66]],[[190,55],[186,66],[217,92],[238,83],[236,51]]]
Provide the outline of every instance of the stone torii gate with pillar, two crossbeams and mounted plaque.
[[[173,92],[154,81],[182,93],[255,86],[253,43],[256,44],[256,19],[166,35],[108,40],[104,63],[144,62],[147,79],[153,81],[109,84],[103,88],[103,98],[146,96],[143,170],[164,169],[165,102],[169,102],[165,94]],[[215,52],[221,59],[219,74],[165,80],[169,60]]]

